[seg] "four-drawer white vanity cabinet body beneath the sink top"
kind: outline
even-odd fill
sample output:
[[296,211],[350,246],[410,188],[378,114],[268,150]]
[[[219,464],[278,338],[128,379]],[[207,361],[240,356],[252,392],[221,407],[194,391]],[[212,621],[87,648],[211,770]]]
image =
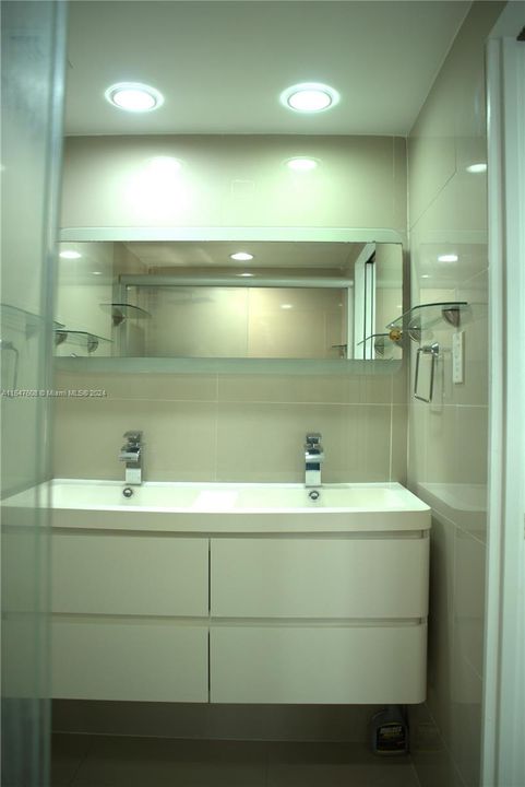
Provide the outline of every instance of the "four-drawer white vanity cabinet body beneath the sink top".
[[428,526],[189,535],[176,525],[55,529],[55,697],[425,700]]

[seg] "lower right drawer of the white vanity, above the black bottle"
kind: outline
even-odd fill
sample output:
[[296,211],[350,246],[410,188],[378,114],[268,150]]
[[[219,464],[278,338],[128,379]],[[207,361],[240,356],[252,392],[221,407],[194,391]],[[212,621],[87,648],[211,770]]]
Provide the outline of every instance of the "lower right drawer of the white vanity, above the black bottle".
[[427,626],[213,626],[214,703],[425,701]]

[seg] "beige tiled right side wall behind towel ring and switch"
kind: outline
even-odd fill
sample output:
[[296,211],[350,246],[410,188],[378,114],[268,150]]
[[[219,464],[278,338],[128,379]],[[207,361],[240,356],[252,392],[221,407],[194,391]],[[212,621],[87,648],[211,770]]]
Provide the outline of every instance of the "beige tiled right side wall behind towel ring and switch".
[[[432,403],[409,404],[409,486],[433,507],[428,708],[443,752],[416,751],[422,787],[479,779],[487,483],[487,179],[484,44],[503,3],[476,2],[408,140],[413,304],[467,301],[464,383],[439,342]],[[456,262],[440,262],[454,254]],[[414,383],[414,360],[411,384]],[[425,745],[421,747],[425,749]]]

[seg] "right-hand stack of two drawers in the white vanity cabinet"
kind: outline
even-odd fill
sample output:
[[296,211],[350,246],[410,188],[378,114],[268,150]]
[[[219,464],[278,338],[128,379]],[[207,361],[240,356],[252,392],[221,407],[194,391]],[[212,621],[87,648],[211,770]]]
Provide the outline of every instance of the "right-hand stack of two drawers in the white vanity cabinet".
[[211,701],[419,703],[428,531],[211,543]]

